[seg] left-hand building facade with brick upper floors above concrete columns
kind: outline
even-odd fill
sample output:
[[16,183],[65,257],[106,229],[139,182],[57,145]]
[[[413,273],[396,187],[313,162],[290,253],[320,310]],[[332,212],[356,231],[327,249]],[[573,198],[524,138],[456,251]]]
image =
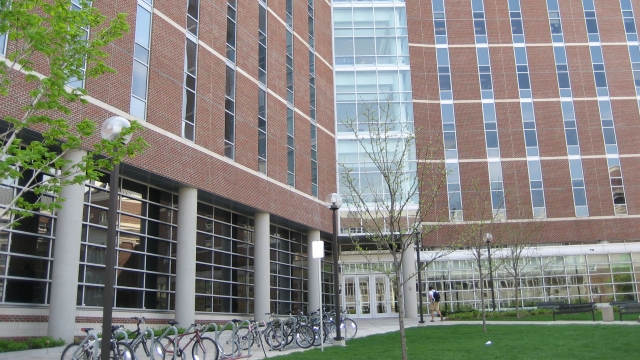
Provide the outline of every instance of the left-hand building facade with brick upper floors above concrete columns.
[[[150,146],[121,165],[118,209],[108,208],[104,174],[63,190],[60,211],[0,233],[0,337],[70,341],[101,322],[116,210],[114,323],[142,314],[186,327],[315,310],[320,271],[323,302],[333,303],[330,241],[322,268],[308,261],[310,241],[331,239],[324,199],[336,191],[330,3],[94,6],[108,18],[126,13],[131,30],[107,49],[115,74],[71,84],[89,96],[69,119],[137,120]],[[7,56],[15,44],[1,40]],[[9,94],[3,116],[24,101]]]

